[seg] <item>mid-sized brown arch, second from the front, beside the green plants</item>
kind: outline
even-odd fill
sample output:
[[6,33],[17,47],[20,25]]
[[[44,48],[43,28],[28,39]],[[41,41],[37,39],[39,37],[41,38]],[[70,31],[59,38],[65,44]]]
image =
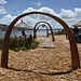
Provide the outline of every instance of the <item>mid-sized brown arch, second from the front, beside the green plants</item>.
[[37,26],[38,26],[38,24],[40,24],[40,23],[44,23],[44,24],[46,24],[46,25],[50,27],[51,33],[52,33],[52,41],[55,41],[55,39],[54,39],[54,33],[53,33],[53,29],[52,29],[51,25],[50,25],[49,23],[46,23],[46,22],[38,22],[38,23],[35,25],[35,28],[33,28],[33,40],[37,38],[37,35],[36,35],[36,32],[37,32]]

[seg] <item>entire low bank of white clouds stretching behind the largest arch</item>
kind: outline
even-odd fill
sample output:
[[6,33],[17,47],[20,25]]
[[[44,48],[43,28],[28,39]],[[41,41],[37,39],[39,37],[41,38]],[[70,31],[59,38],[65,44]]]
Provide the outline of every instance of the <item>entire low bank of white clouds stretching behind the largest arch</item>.
[[[50,14],[59,16],[63,21],[65,21],[68,24],[69,27],[71,27],[71,25],[81,21],[81,9],[78,9],[78,8],[75,8],[75,11],[62,9],[59,14],[57,14],[54,10],[50,8],[40,8],[39,10],[36,10],[33,8],[28,8],[23,11],[23,14],[28,13],[28,12],[33,12],[33,11],[45,12],[45,13],[50,13]],[[16,16],[12,16],[11,14],[8,14],[3,16],[3,18],[0,19],[0,23],[10,24],[15,17]],[[53,28],[62,27],[57,22],[55,22],[51,17],[40,15],[40,14],[33,14],[31,16],[26,16],[26,17],[23,17],[23,19],[25,23],[27,23],[28,25],[32,27],[38,22],[41,22],[41,21],[48,22]]]

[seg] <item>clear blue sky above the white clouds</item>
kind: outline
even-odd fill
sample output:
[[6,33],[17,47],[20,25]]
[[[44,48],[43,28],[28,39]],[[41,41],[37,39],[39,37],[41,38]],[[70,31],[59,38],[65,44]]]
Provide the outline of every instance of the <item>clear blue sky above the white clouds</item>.
[[[41,5],[36,5],[39,2]],[[12,14],[16,13],[16,11],[22,12],[29,6],[33,9],[46,6],[59,13],[60,9],[73,11],[75,8],[81,8],[81,0],[6,0],[6,3],[2,5]]]

